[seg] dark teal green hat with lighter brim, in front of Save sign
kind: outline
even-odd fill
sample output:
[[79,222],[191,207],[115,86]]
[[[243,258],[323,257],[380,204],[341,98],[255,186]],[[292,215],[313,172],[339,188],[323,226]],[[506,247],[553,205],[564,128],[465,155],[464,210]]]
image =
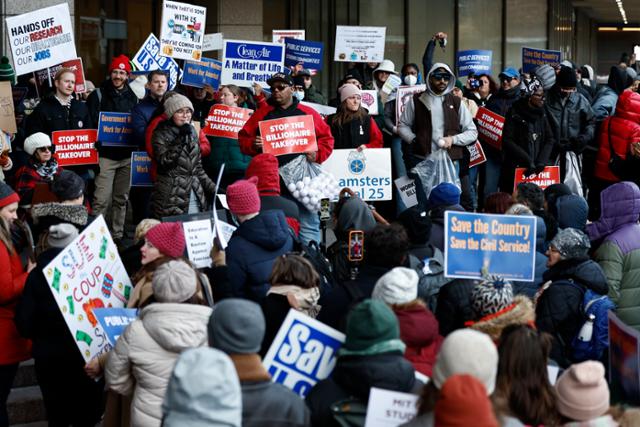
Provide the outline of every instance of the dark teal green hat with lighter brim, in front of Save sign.
[[347,317],[346,340],[340,356],[366,356],[390,351],[404,352],[400,326],[385,303],[368,299],[355,306]]

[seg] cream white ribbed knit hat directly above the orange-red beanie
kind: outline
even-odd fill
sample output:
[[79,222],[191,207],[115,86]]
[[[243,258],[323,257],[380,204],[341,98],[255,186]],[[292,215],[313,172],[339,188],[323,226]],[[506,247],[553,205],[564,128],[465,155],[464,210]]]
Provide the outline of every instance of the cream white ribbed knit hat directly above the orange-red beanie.
[[445,338],[431,379],[440,390],[452,375],[469,374],[484,384],[491,395],[498,374],[498,349],[489,335],[473,329],[458,329]]

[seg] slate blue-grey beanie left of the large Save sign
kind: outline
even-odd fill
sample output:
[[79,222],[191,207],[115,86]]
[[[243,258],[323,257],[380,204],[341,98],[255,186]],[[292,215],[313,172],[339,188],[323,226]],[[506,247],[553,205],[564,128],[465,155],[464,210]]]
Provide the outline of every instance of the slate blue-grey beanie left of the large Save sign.
[[213,348],[227,354],[257,353],[264,338],[264,314],[253,301],[225,299],[213,308],[208,330]]

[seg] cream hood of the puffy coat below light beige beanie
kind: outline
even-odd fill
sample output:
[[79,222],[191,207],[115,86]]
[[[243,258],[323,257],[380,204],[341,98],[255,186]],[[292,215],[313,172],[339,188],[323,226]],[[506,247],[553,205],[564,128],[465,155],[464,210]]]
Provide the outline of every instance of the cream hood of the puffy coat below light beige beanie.
[[140,312],[147,333],[173,353],[206,345],[211,308],[194,304],[154,303]]

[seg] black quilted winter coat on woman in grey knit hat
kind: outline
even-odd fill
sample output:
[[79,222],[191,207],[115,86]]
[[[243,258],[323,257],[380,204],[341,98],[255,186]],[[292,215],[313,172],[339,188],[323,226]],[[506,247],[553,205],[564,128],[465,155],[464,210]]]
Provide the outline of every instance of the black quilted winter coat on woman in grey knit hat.
[[206,211],[215,184],[202,168],[200,143],[193,126],[191,133],[181,135],[171,119],[161,122],[151,137],[153,157],[158,165],[151,207],[155,218],[183,215],[189,208],[191,190],[200,210]]

